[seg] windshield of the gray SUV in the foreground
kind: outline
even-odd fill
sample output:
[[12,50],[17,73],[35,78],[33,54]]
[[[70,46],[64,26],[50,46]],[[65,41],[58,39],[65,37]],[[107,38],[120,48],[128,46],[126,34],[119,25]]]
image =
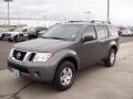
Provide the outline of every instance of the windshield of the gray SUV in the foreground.
[[81,24],[61,24],[51,28],[43,37],[73,41],[79,34]]

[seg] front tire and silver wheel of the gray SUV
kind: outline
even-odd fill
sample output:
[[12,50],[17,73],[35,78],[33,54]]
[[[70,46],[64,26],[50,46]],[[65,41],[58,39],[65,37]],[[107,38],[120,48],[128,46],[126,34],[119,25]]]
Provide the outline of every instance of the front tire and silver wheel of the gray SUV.
[[75,78],[75,66],[71,62],[63,62],[59,65],[54,79],[53,88],[57,90],[69,89]]

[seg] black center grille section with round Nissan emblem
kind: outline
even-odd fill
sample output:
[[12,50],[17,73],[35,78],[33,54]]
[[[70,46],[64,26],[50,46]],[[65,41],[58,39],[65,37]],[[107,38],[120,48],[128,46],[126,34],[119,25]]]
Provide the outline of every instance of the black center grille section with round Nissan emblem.
[[27,52],[22,52],[22,51],[13,51],[13,55],[12,57],[14,57],[18,61],[23,61],[24,56],[25,56]]

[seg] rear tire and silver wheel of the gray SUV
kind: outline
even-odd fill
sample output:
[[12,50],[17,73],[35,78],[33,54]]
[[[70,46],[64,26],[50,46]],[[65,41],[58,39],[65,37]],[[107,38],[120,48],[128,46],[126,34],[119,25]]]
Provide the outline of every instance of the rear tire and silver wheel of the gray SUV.
[[108,58],[104,61],[104,66],[112,67],[115,63],[115,58],[116,58],[116,50],[111,48]]

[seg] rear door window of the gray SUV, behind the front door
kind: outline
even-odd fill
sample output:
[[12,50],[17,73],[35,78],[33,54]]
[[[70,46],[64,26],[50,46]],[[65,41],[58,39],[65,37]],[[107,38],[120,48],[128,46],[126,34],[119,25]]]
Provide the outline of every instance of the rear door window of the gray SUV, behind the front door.
[[108,26],[98,25],[98,37],[106,38],[109,36]]

